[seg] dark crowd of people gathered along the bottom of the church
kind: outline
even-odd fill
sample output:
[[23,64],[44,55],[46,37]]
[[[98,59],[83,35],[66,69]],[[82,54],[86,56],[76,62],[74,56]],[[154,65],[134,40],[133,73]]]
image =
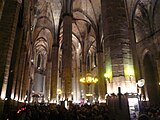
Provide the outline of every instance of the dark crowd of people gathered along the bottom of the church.
[[[64,105],[25,105],[12,111],[2,120],[116,120],[115,113],[106,105],[74,105],[66,109]],[[160,120],[160,107],[145,106],[134,120]]]

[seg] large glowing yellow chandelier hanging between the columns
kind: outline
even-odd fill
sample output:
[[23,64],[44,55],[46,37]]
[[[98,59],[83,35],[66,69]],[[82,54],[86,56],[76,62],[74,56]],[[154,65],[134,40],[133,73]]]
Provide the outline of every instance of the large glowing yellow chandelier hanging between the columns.
[[95,84],[98,82],[98,78],[93,77],[91,73],[87,73],[86,76],[80,78],[80,82],[87,85]]

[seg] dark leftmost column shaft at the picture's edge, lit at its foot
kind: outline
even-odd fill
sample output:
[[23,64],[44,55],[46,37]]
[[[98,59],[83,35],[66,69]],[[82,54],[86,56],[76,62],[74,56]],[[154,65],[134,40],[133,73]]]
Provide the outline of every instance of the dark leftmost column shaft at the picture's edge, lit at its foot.
[[[10,6],[12,5],[12,6]],[[10,97],[12,90],[12,80],[8,82],[9,74],[13,77],[13,72],[9,73],[12,50],[16,34],[16,27],[19,15],[19,3],[15,0],[7,0],[4,4],[0,21],[0,92],[1,97]],[[13,67],[13,66],[12,66]],[[6,94],[8,84],[8,93]]]

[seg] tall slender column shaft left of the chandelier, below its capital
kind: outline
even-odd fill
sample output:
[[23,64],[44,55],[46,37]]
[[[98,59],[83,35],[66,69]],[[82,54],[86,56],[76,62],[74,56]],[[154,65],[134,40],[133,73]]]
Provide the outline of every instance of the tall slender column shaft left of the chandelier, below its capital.
[[63,48],[62,48],[62,80],[64,81],[65,99],[71,99],[72,92],[72,15],[63,17]]

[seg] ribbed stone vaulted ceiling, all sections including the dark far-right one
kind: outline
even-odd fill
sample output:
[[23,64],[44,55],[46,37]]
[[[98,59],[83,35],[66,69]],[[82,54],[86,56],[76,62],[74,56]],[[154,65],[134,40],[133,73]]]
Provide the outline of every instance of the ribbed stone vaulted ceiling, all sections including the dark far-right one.
[[[124,0],[129,21],[135,26],[137,41],[147,36],[150,22],[159,30],[160,3],[158,0]],[[96,49],[97,33],[102,36],[101,0],[73,0],[72,43],[74,48]],[[63,0],[34,0],[32,25],[37,52],[50,53],[52,44],[61,44],[63,39]],[[148,18],[148,16],[151,16]],[[159,17],[157,17],[159,16]],[[146,27],[142,33],[143,27]],[[143,36],[143,37],[141,37]],[[89,48],[88,48],[89,47]]]

